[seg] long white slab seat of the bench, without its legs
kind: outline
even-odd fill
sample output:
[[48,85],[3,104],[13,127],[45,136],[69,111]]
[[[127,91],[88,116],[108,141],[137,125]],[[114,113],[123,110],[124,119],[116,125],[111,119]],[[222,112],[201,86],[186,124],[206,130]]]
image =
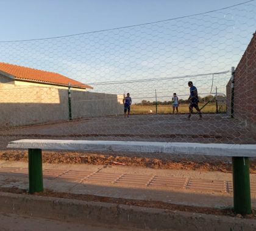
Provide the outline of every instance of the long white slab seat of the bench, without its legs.
[[256,157],[256,145],[226,143],[23,139],[9,142],[7,148]]

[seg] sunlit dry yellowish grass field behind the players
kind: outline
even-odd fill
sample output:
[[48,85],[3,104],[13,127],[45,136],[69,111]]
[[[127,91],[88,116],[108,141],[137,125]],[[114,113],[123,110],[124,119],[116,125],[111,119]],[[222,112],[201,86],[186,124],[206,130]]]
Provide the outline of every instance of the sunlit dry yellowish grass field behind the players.
[[[204,106],[204,103],[199,103],[199,108]],[[152,112],[151,112],[152,111]],[[180,104],[179,105],[179,112],[180,113],[188,113],[188,104]],[[194,109],[194,112],[196,110]],[[216,105],[215,103],[209,103],[206,105],[202,112],[216,112]],[[158,114],[169,114],[172,113],[172,105],[157,105],[157,113]],[[141,106],[141,105],[132,105],[131,107],[131,114],[155,114],[155,105],[152,106]]]

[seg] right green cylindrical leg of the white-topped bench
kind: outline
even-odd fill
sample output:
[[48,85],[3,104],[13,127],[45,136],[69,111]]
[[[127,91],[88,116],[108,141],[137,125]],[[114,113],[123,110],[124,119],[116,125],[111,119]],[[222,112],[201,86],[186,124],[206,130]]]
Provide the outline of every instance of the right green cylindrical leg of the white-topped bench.
[[251,214],[249,157],[232,157],[235,213]]

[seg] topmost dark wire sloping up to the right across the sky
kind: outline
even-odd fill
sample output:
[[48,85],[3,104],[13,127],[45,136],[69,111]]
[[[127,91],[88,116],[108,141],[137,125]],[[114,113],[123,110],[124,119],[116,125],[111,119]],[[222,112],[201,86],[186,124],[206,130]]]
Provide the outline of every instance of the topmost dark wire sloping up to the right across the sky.
[[218,12],[219,10],[230,9],[232,7],[236,7],[238,5],[244,5],[246,3],[253,2],[253,1],[255,1],[255,0],[249,0],[249,1],[246,1],[246,2],[241,2],[239,4],[230,5],[229,7],[223,7],[221,9],[217,9],[217,10],[210,10],[208,12],[195,13],[193,15],[180,16],[180,17],[176,17],[176,18],[169,18],[169,19],[154,21],[154,22],[146,22],[146,23],[135,24],[135,25],[131,25],[131,26],[115,27],[115,28],[112,28],[112,29],[105,29],[105,30],[94,30],[94,31],[91,31],[91,32],[74,33],[72,35],[55,36],[55,37],[49,37],[49,38],[35,38],[35,39],[31,39],[31,40],[0,41],[0,43],[16,43],[16,42],[25,42],[25,41],[52,40],[52,39],[55,39],[55,38],[66,38],[66,37],[71,37],[71,36],[86,35],[86,34],[90,34],[90,33],[107,32],[107,31],[110,31],[110,30],[119,30],[119,29],[131,28],[131,27],[145,26],[145,25],[150,25],[150,24],[155,24],[155,23],[160,23],[160,22],[172,21],[172,20],[176,20],[176,19],[189,18],[189,17],[192,17],[192,16],[204,15],[206,13]]

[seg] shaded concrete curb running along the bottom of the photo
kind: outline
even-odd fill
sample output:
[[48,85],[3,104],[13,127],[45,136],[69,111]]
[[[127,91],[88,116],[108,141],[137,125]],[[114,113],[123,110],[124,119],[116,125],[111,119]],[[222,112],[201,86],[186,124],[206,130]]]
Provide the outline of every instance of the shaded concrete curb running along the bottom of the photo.
[[105,202],[0,193],[0,212],[80,224],[146,230],[256,230],[254,219],[152,209]]

